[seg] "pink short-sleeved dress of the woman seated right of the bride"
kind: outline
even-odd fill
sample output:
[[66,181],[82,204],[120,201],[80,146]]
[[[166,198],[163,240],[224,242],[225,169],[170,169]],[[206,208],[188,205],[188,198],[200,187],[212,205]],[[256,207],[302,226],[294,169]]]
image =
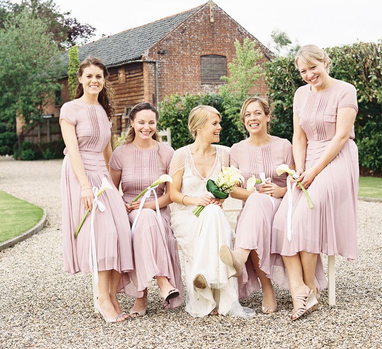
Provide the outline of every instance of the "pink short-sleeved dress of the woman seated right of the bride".
[[[255,175],[256,178],[260,178],[261,172],[265,173],[266,178],[270,177],[275,184],[285,187],[286,174],[278,176],[276,169],[281,164],[288,166],[294,164],[292,145],[288,140],[276,136],[271,136],[270,143],[262,147],[251,146],[247,140],[236,143],[231,147],[229,158],[230,165],[242,172],[245,178],[244,188],[247,187],[249,177]],[[259,256],[260,269],[267,277],[273,278],[280,285],[285,285],[287,283],[285,273],[272,275],[275,262],[283,266],[281,256],[271,256],[272,222],[281,200],[258,191],[249,195],[243,202],[243,209],[237,219],[234,248],[255,250]],[[258,275],[250,256],[238,283],[240,299],[248,298],[254,291],[260,289]]]

